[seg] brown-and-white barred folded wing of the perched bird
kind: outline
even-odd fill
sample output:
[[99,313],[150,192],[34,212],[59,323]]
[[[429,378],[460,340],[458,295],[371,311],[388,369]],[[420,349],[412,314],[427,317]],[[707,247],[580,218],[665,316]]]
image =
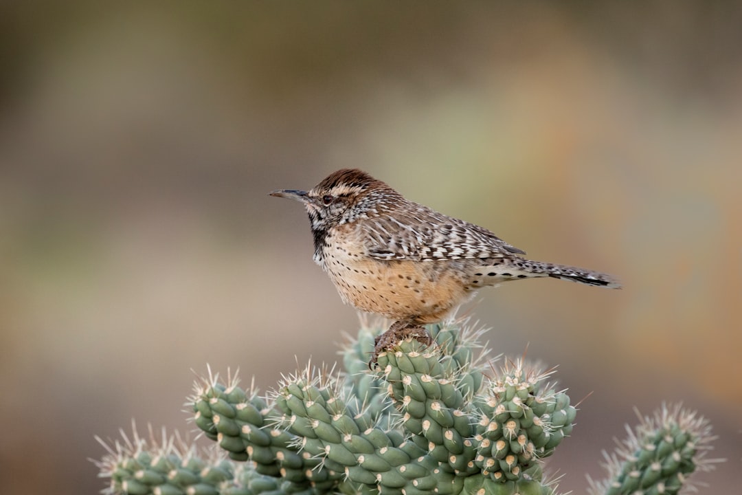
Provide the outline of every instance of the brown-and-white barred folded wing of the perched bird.
[[367,254],[378,260],[457,260],[525,255],[492,232],[425,206],[363,222]]

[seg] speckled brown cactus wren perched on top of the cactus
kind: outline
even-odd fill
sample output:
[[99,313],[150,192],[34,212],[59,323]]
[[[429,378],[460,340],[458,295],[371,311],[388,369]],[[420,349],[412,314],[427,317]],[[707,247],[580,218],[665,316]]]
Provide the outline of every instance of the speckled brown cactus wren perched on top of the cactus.
[[303,203],[315,263],[344,303],[394,321],[376,338],[370,365],[401,338],[428,341],[421,325],[441,321],[484,286],[552,277],[620,287],[604,273],[522,258],[489,230],[406,200],[361,170],[336,171],[310,191],[270,195]]

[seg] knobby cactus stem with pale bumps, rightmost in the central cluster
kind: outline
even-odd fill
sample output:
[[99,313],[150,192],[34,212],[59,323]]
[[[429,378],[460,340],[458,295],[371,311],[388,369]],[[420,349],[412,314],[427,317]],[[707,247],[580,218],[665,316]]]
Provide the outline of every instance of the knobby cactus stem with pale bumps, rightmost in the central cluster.
[[550,375],[518,361],[502,369],[479,401],[474,462],[491,480],[540,480],[539,459],[571,433],[577,410],[565,393],[545,384]]

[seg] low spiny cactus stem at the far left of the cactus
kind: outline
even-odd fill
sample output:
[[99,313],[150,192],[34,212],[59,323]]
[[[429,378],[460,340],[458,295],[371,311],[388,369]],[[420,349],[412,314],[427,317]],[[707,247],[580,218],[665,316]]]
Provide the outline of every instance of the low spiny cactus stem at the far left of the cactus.
[[232,462],[214,453],[200,456],[193,447],[177,448],[177,439],[167,439],[164,434],[162,442],[147,442],[135,429],[132,439],[123,435],[123,440],[110,446],[99,439],[108,450],[96,462],[99,476],[111,478],[104,493],[216,495],[224,482],[232,480]]

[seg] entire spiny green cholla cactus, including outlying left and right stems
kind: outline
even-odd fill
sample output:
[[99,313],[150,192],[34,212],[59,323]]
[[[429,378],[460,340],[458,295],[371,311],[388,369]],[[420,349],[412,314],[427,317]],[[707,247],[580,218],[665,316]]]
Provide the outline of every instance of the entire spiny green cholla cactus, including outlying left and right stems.
[[[237,376],[221,383],[209,373],[188,404],[222,455],[200,457],[164,436],[148,445],[135,433],[99,462],[108,492],[555,493],[543,459],[571,434],[577,410],[548,381],[554,370],[522,359],[496,370],[479,343],[483,330],[453,323],[428,327],[429,347],[399,342],[368,370],[379,330],[361,327],[344,370],[309,364],[267,396],[243,390]],[[608,457],[610,479],[591,482],[592,491],[674,494],[684,476],[709,466],[701,458],[710,438],[705,420],[663,408]]]

